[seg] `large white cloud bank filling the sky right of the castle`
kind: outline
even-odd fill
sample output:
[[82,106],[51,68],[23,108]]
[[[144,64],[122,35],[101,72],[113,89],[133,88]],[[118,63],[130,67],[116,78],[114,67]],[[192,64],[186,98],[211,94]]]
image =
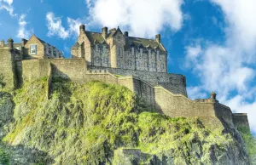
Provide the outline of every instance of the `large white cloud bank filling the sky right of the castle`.
[[186,64],[189,63],[187,66],[201,79],[200,94],[214,90],[218,100],[230,105],[232,111],[247,113],[251,128],[256,132],[253,118],[256,117],[256,100],[252,100],[256,96],[253,87],[256,1],[212,0],[212,3],[224,12],[226,41],[223,45],[208,41],[192,43],[187,47]]

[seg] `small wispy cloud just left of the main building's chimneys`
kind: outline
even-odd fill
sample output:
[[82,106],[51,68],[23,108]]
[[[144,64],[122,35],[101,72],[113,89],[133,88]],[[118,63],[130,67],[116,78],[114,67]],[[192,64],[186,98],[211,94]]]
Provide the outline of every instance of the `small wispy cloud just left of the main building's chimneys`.
[[62,26],[61,17],[55,17],[55,14],[49,12],[46,14],[47,27],[48,27],[48,36],[57,36],[62,39],[67,37],[78,36],[79,35],[79,26],[82,24],[82,20],[73,20],[72,18],[67,18],[68,28],[65,29]]

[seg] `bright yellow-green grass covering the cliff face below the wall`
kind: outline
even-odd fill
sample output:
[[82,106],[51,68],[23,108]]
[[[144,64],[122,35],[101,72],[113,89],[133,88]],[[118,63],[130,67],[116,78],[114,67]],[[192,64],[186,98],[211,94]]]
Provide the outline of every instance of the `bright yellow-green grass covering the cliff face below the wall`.
[[[54,79],[47,100],[46,85],[43,78],[16,91],[15,122],[3,141],[45,151],[56,163],[111,163],[114,150],[120,148],[137,148],[153,155],[173,151],[177,158],[199,163],[210,160],[203,152],[212,146],[221,151],[232,143],[230,134],[212,131],[199,119],[170,118],[148,111],[125,87]],[[192,150],[201,160],[189,154]]]

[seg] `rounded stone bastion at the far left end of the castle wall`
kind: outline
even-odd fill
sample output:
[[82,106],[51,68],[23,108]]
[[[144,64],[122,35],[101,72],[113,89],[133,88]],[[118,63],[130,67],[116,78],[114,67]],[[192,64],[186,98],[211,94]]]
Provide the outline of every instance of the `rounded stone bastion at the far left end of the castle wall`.
[[0,48],[0,74],[3,75],[3,85],[6,88],[15,88],[15,51],[8,47]]

